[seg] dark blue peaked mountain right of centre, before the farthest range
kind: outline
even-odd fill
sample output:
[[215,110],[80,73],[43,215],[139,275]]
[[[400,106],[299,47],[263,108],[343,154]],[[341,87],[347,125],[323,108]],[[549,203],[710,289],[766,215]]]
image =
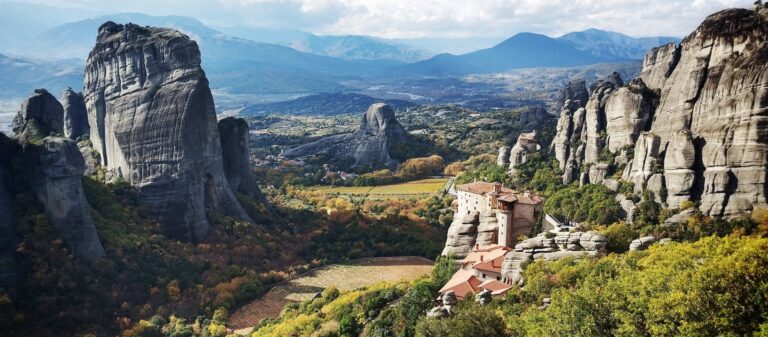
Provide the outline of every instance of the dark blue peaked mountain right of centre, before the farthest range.
[[573,67],[621,58],[593,55],[572,43],[551,37],[519,33],[488,49],[451,55],[441,54],[404,68],[423,74],[494,73],[510,69],[537,67]]

